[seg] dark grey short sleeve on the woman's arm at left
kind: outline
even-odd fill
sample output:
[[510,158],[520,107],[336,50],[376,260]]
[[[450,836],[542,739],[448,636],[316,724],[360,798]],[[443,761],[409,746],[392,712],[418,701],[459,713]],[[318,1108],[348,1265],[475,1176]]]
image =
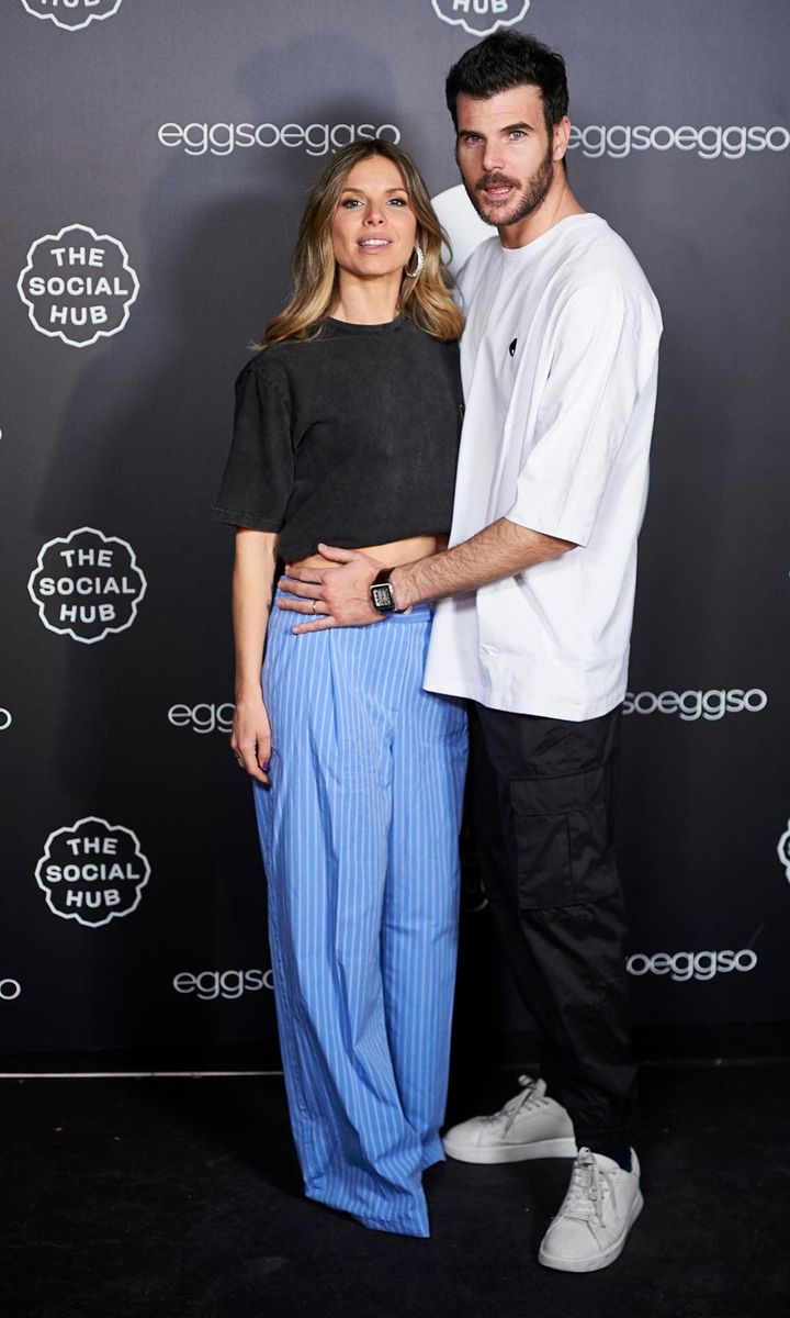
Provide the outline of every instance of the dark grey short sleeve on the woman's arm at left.
[[216,522],[279,531],[294,488],[294,443],[287,381],[255,358],[236,381],[230,453],[212,509]]

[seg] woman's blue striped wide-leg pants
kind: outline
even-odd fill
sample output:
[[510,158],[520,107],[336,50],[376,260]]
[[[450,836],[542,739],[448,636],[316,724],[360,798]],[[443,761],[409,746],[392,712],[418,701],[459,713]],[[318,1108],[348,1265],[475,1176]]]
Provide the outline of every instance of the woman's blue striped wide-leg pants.
[[466,768],[461,701],[423,691],[431,610],[295,637],[273,606],[271,784],[255,784],[305,1193],[429,1235],[442,1159]]

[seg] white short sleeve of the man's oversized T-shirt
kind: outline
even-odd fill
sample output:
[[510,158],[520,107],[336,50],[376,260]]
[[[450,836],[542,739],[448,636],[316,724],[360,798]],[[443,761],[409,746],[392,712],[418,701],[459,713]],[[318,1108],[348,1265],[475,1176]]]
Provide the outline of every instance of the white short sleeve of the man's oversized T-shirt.
[[510,522],[587,544],[640,395],[654,378],[660,324],[645,303],[569,303],[545,384],[535,443]]

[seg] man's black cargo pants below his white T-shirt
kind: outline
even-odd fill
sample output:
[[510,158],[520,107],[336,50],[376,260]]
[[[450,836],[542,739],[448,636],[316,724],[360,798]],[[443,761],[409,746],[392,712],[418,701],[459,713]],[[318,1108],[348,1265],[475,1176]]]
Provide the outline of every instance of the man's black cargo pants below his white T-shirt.
[[491,912],[577,1145],[629,1144],[636,1068],[612,846],[620,706],[569,722],[473,705],[474,815]]

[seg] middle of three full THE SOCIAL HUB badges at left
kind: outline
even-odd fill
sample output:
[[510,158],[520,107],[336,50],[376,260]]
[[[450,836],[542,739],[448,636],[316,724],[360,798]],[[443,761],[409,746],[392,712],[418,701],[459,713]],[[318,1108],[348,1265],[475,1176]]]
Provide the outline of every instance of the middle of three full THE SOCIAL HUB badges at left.
[[45,627],[86,646],[130,627],[146,587],[132,546],[92,526],[47,540],[28,580]]

